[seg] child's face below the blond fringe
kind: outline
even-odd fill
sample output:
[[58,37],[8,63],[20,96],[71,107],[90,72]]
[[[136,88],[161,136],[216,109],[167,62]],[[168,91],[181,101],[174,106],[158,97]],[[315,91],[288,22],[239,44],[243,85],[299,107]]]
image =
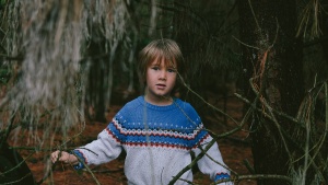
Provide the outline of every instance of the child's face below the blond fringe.
[[153,100],[169,96],[176,82],[175,62],[166,63],[154,60],[147,68],[147,95]]

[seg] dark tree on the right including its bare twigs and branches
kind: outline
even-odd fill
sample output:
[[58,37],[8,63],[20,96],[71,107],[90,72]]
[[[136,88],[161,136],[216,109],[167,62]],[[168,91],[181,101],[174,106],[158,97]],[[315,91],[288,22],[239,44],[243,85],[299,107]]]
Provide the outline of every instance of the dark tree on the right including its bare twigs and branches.
[[244,90],[254,111],[249,123],[256,173],[290,175],[303,184],[317,175],[324,182],[323,169],[318,170],[318,161],[308,151],[317,143],[312,138],[320,135],[309,130],[315,123],[306,116],[313,94],[305,94],[296,1],[239,0],[238,10],[246,71]]

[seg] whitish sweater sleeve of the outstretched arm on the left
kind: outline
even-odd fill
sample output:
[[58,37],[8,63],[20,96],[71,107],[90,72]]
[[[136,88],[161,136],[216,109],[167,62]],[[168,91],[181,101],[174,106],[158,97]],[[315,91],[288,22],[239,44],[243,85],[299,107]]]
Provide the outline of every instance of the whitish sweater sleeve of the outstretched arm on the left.
[[[102,164],[116,159],[121,150],[121,143],[110,131],[113,122],[106,129],[98,134],[97,139],[87,143],[84,147],[80,147],[72,152],[80,159],[79,164],[74,165],[74,169],[83,169],[84,164]],[[84,163],[84,164],[83,164]]]

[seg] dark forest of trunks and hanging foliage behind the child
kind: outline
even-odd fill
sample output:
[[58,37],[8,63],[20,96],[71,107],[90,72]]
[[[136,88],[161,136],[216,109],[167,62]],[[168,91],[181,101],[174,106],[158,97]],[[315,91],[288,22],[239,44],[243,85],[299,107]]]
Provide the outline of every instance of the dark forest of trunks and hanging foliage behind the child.
[[209,91],[243,100],[242,123],[214,136],[247,126],[258,184],[328,184],[327,1],[1,0],[0,19],[1,143],[45,117],[38,140],[103,122],[140,94],[138,51],[172,38],[188,63],[178,95],[201,116],[225,113]]

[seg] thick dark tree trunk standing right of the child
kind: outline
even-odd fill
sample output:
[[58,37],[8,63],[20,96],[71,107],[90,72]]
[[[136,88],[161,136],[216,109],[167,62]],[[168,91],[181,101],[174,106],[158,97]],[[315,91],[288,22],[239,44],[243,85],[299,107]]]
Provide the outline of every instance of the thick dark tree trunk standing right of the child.
[[[295,1],[238,1],[245,95],[250,101],[259,95],[257,108],[261,109],[250,120],[254,165],[258,174],[288,175],[292,162],[286,148],[294,149],[282,140],[280,127],[289,132],[293,123],[276,115],[277,126],[262,113],[270,115],[266,102],[276,111],[295,116],[303,97],[302,45],[295,38]],[[251,90],[250,78],[258,93]],[[288,184],[281,180],[258,183]]]

